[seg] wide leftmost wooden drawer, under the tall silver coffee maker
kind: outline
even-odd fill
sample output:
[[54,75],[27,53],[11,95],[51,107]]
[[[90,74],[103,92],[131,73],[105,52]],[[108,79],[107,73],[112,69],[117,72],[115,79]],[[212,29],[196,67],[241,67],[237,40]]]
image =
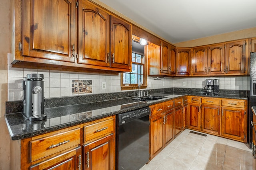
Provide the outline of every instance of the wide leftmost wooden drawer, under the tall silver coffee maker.
[[80,144],[80,128],[30,141],[30,160],[38,160]]

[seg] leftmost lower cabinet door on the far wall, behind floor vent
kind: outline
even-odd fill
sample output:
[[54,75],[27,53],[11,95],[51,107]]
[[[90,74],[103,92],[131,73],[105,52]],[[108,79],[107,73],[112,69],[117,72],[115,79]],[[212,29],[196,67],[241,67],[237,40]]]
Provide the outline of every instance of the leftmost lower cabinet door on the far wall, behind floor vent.
[[200,104],[188,104],[188,127],[200,130]]

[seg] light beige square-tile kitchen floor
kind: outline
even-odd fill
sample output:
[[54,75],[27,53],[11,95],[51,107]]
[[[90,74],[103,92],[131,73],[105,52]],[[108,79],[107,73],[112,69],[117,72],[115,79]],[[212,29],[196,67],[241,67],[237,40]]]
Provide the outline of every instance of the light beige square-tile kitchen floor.
[[140,170],[252,170],[246,144],[190,131],[185,129]]

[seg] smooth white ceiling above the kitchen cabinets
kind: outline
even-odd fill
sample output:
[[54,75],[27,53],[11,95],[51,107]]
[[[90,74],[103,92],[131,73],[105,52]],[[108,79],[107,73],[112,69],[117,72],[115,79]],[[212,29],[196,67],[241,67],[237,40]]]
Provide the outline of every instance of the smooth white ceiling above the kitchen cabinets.
[[178,43],[256,27],[256,0],[100,0]]

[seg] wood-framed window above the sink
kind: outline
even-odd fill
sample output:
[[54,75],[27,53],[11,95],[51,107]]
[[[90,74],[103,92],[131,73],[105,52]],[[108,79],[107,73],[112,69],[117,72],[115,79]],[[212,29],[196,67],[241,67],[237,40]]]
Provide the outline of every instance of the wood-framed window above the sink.
[[140,81],[141,88],[146,88],[146,57],[144,46],[138,42],[139,38],[132,40],[132,71],[121,74],[121,89],[129,90],[138,88]]

